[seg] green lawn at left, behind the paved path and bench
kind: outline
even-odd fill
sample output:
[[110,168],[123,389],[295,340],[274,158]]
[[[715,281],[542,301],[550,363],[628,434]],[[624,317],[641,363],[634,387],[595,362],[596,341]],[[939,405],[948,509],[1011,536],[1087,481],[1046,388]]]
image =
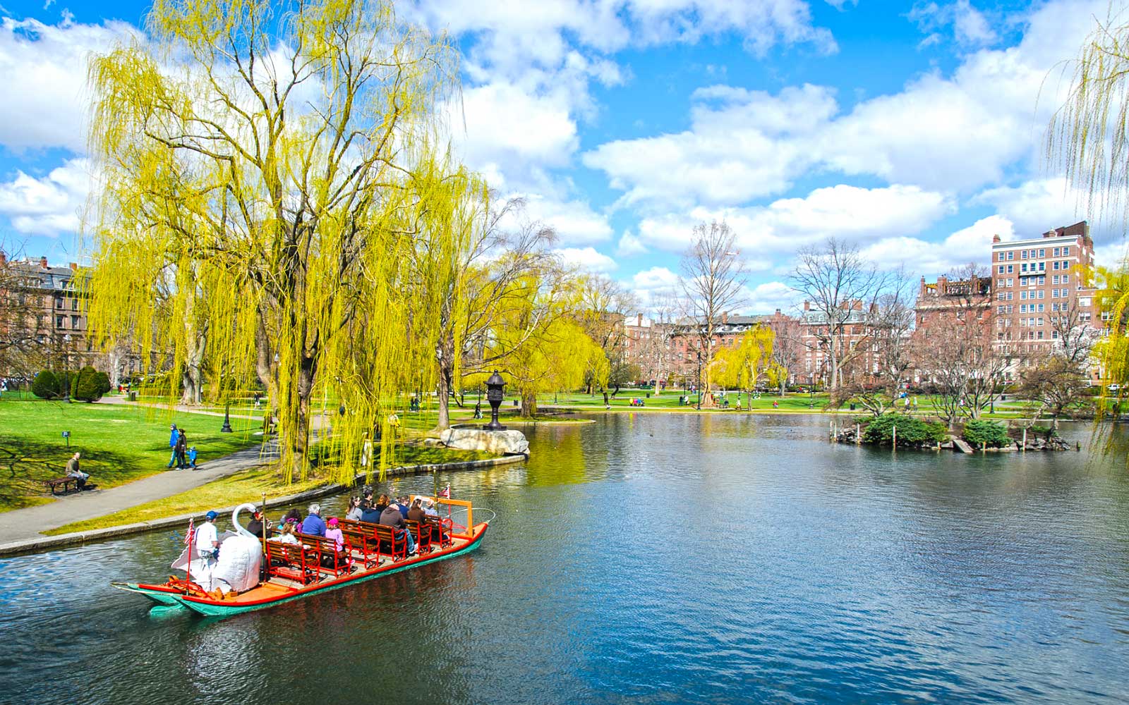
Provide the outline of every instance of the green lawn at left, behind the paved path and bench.
[[[43,479],[65,474],[82,452],[82,470],[99,487],[152,475],[168,462],[168,425],[176,423],[205,461],[259,443],[259,423],[233,418],[235,433],[220,433],[222,418],[124,404],[0,399],[0,511],[50,501]],[[70,431],[70,448],[63,431]]]

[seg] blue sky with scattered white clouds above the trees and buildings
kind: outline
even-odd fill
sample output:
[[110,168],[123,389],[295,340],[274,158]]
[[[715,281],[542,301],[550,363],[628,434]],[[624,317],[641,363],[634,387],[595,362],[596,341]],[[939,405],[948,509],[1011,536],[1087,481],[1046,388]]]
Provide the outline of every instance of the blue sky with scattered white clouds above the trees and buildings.
[[[834,236],[935,277],[992,235],[1087,217],[1045,125],[1105,0],[401,2],[463,53],[464,160],[562,256],[647,306],[695,222],[725,219],[749,312],[795,305],[797,248]],[[0,0],[0,241],[79,259],[85,62],[147,5]],[[1093,221],[1093,218],[1091,218]],[[1097,223],[1100,256],[1120,237]]]

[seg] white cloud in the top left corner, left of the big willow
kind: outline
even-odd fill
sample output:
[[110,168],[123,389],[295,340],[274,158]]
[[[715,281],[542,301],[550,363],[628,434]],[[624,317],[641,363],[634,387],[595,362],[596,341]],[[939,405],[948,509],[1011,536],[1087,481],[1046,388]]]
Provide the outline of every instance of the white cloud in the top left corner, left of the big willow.
[[137,30],[124,23],[59,25],[0,20],[0,144],[11,150],[86,151],[86,65]]

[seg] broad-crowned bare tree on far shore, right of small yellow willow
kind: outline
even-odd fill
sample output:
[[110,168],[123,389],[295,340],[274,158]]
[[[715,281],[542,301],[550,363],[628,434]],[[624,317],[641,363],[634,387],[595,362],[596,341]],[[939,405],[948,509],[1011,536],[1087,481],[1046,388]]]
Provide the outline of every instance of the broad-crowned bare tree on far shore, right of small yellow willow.
[[867,312],[885,290],[887,276],[854,245],[829,238],[820,247],[799,250],[789,279],[815,311],[809,328],[826,358],[829,387],[835,390],[842,367],[869,345]]

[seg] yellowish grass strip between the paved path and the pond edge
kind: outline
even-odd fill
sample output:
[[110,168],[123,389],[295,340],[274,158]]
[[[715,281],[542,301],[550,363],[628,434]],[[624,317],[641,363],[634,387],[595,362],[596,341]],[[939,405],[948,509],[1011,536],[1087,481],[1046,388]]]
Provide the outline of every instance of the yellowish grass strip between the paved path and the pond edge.
[[[399,465],[429,465],[439,462],[463,462],[467,460],[484,460],[490,453],[476,450],[452,450],[449,448],[432,448],[427,446],[402,446],[396,452]],[[315,470],[316,473],[316,470]],[[236,473],[207,485],[202,485],[181,494],[175,494],[152,502],[131,506],[113,514],[96,517],[86,521],[76,521],[50,531],[49,536],[70,534],[71,531],[89,531],[107,527],[119,527],[138,521],[152,521],[165,517],[177,517],[191,512],[204,512],[217,506],[231,506],[244,502],[259,503],[265,493],[270,496],[297,494],[331,484],[329,473],[314,475],[303,482],[286,484],[281,473],[275,467],[265,466]]]

